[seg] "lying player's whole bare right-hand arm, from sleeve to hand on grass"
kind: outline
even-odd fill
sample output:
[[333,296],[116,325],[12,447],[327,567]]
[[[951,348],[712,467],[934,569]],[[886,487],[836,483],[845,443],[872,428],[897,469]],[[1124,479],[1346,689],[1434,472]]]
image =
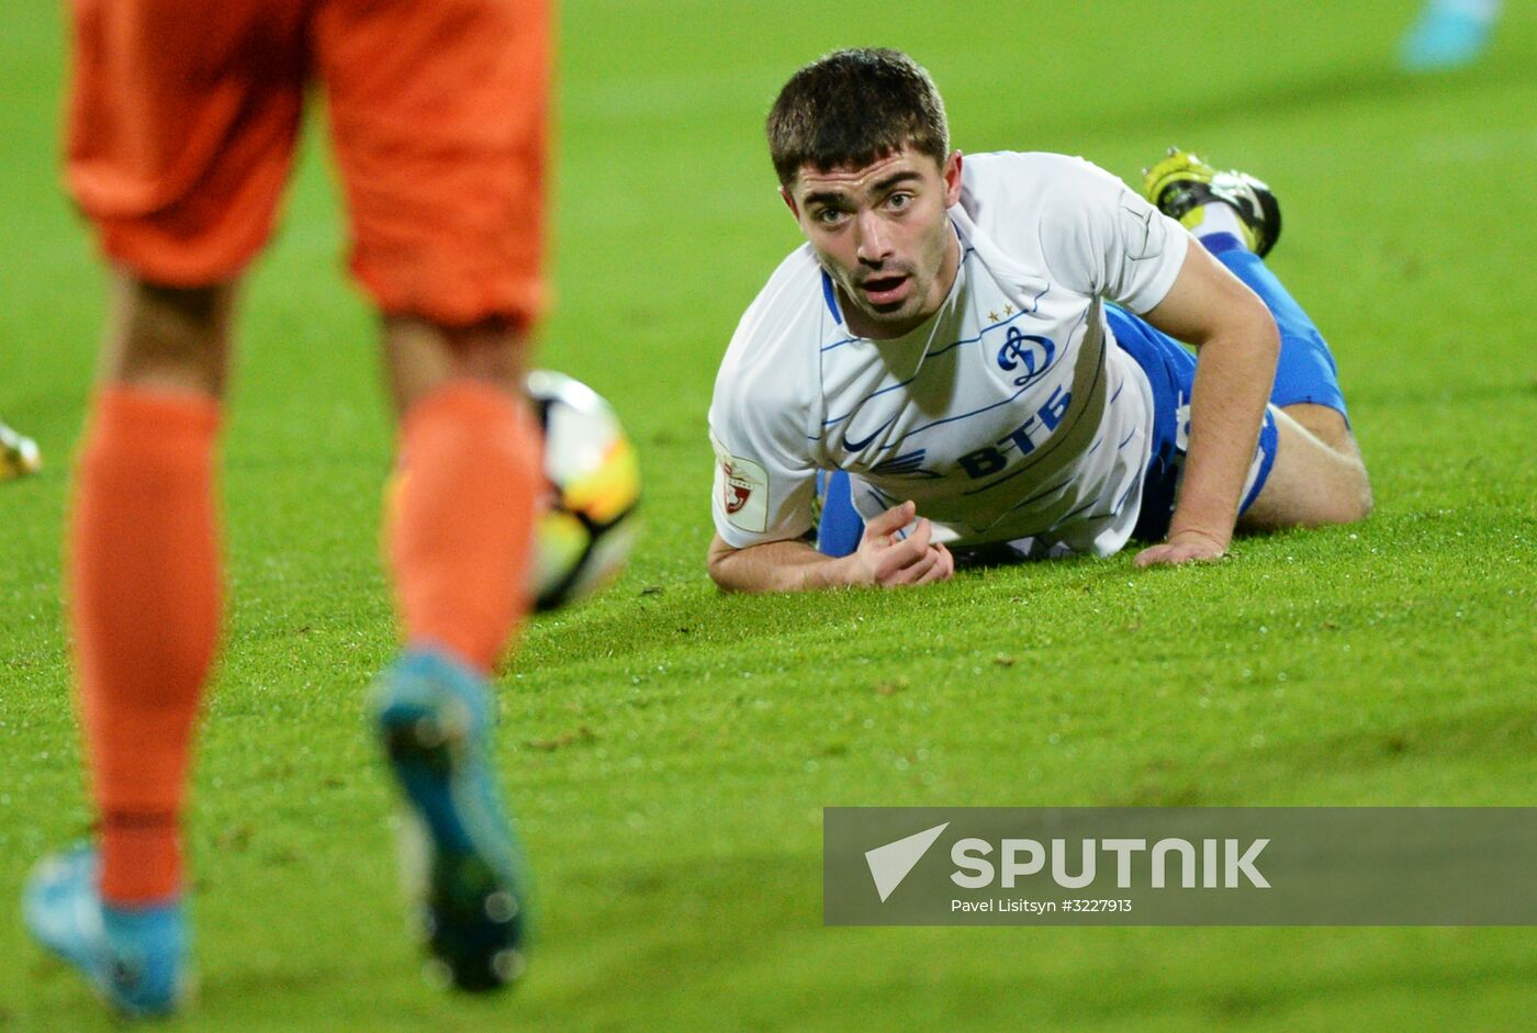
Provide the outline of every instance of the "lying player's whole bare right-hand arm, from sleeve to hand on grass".
[[1140,567],[1227,553],[1259,440],[1280,337],[1265,304],[1202,247],[1191,247],[1168,295],[1144,318],[1197,349],[1185,483],[1168,541]]

